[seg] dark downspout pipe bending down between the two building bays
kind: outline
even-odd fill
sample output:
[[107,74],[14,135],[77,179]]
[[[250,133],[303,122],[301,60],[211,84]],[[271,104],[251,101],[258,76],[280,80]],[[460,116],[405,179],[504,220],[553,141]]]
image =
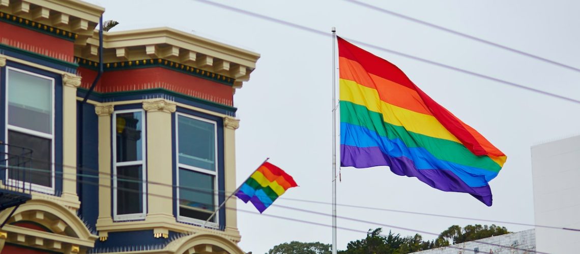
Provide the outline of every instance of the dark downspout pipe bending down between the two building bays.
[[[95,86],[97,85],[97,83],[99,82],[99,80],[101,79],[101,75],[103,75],[103,15],[101,14],[101,17],[99,18],[99,71],[97,72],[97,76],[95,78],[95,80],[93,81],[93,84],[90,85],[90,89],[89,91],[85,94],[85,98],[82,100],[81,103],[81,112],[79,112],[78,114],[78,120],[79,120],[79,135],[78,135],[78,154],[79,156],[77,157],[77,171],[81,170],[84,167],[84,161],[83,161],[83,137],[84,137],[84,112],[85,112],[85,103],[87,100],[89,100],[89,95],[90,93],[93,92],[93,89],[95,89]],[[82,174],[83,172],[78,172],[80,174]],[[82,176],[79,176],[78,178],[80,178],[80,180],[82,180]],[[79,181],[77,181],[77,192],[82,193],[82,185],[78,184]],[[81,211],[82,211],[82,207],[81,207]]]

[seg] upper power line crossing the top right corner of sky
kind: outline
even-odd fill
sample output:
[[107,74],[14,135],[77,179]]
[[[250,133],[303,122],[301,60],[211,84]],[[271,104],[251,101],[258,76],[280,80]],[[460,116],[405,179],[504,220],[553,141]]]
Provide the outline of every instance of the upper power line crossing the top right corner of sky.
[[476,36],[464,34],[462,32],[459,32],[459,31],[456,31],[456,30],[451,30],[449,28],[442,27],[440,25],[436,25],[436,24],[433,24],[433,23],[429,23],[427,21],[415,19],[414,17],[409,17],[409,16],[406,16],[406,15],[401,14],[401,13],[393,12],[392,10],[387,10],[387,9],[379,8],[378,6],[370,5],[368,3],[359,2],[359,1],[356,1],[356,0],[343,0],[343,1],[351,2],[351,3],[354,3],[356,5],[363,6],[363,7],[368,8],[368,9],[376,10],[378,12],[382,12],[382,13],[385,13],[385,14],[389,14],[391,16],[399,17],[401,19],[405,19],[405,20],[408,20],[408,21],[411,21],[411,22],[414,22],[414,23],[426,25],[427,27],[435,28],[435,29],[440,30],[440,31],[448,32],[450,34],[454,34],[454,35],[457,35],[457,36],[461,36],[463,38],[471,39],[471,40],[476,41],[476,42],[481,42],[481,43],[484,43],[484,44],[487,44],[487,45],[491,45],[491,46],[494,46],[494,47],[498,47],[500,49],[504,49],[504,50],[507,50],[507,51],[511,51],[513,53],[516,53],[516,54],[521,54],[523,56],[531,57],[531,58],[534,58],[535,60],[547,62],[548,64],[553,64],[553,65],[557,65],[559,67],[563,67],[563,68],[570,69],[570,70],[575,71],[575,72],[580,72],[580,69],[579,68],[572,67],[572,66],[567,65],[567,64],[562,64],[561,62],[556,62],[556,61],[553,61],[553,60],[549,60],[548,58],[545,58],[545,57],[536,56],[534,54],[530,54],[530,53],[527,53],[527,52],[524,52],[524,51],[521,51],[521,50],[514,49],[513,47],[504,46],[504,45],[501,45],[499,43],[495,43],[495,42],[487,41],[485,39],[477,38]]

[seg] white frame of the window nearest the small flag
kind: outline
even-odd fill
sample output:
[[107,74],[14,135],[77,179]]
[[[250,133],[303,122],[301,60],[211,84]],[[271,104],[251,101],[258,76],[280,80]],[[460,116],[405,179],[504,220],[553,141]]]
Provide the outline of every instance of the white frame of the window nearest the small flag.
[[[180,164],[179,163],[179,116],[184,116],[184,117],[188,117],[191,119],[195,119],[195,120],[200,120],[202,122],[206,122],[206,123],[211,123],[213,124],[213,133],[215,134],[215,171],[211,171],[211,170],[206,170],[204,168],[198,168],[198,167],[193,167],[191,165],[186,165],[186,164]],[[205,220],[200,220],[200,219],[194,219],[194,218],[189,218],[187,216],[181,216],[179,214],[179,170],[180,168],[183,168],[184,170],[190,170],[190,171],[194,171],[194,172],[200,172],[202,174],[208,174],[208,175],[213,175],[213,204],[214,205],[218,205],[219,203],[219,176],[218,176],[218,168],[219,168],[219,156],[218,156],[218,123],[212,120],[208,120],[208,119],[204,119],[201,117],[197,117],[197,116],[192,116],[192,115],[187,115],[184,113],[176,113],[175,114],[175,161],[177,161],[177,166],[176,166],[176,186],[177,186],[177,199],[176,199],[176,211],[177,211],[177,221],[178,222],[185,222],[185,223],[190,223],[190,224],[197,224],[197,225],[202,225],[205,223]],[[215,207],[214,209],[216,209],[217,207]],[[215,215],[213,215],[213,218],[215,218],[216,222],[208,222],[207,224],[205,224],[205,226],[208,227],[213,227],[218,229],[219,228],[219,217],[220,216],[220,212],[219,210],[216,211]]]

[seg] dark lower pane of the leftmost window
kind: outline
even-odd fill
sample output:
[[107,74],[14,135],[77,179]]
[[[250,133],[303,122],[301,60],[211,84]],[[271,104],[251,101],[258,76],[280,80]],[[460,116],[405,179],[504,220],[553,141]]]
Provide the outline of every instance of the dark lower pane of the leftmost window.
[[[8,131],[8,178],[52,187],[50,139]],[[26,149],[23,149],[26,148]],[[32,153],[30,153],[30,149]]]

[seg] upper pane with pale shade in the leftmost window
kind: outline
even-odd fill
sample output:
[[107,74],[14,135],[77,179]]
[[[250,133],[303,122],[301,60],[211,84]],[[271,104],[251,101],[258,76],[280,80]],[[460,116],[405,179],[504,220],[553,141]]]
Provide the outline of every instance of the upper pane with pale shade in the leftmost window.
[[52,80],[9,69],[8,123],[52,134]]

